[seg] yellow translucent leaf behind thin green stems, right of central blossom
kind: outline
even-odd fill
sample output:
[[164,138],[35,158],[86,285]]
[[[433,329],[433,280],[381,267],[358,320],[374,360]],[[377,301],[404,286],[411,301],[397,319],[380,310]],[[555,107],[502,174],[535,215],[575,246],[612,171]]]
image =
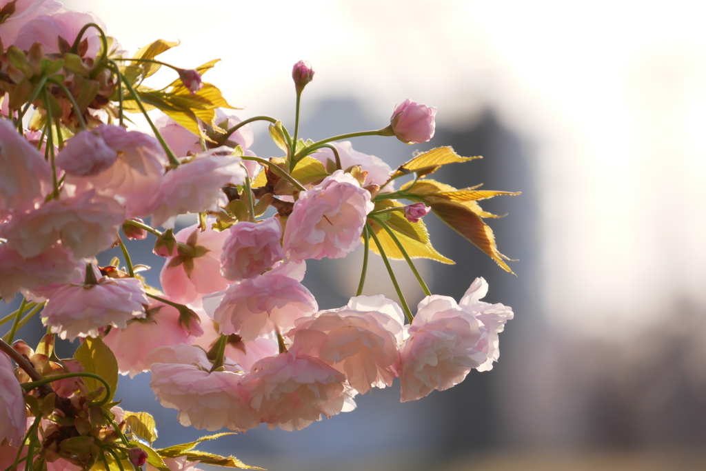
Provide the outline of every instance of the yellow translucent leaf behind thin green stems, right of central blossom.
[[[394,206],[402,206],[402,203],[397,201],[392,201],[391,203]],[[373,232],[375,232],[380,244],[383,246],[385,255],[394,260],[403,260],[405,256],[402,255],[402,251],[397,247],[390,234],[381,226],[381,223],[373,218],[370,218],[368,222],[370,222]],[[409,222],[401,211],[393,211],[387,213],[387,219],[384,224],[392,229],[410,258],[429,258],[441,263],[454,263],[453,260],[439,254],[433,248],[429,240],[429,232],[427,232],[423,221]],[[371,244],[370,248],[374,253],[380,254],[376,244]]]

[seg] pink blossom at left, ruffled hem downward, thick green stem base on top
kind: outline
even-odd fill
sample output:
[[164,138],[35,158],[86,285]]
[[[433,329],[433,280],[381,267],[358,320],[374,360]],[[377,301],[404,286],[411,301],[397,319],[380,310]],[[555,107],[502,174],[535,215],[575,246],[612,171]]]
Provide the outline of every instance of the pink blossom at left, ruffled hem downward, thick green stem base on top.
[[145,316],[148,304],[142,282],[136,278],[107,278],[97,285],[65,285],[42,311],[42,323],[60,338],[97,337],[100,328],[125,328],[127,321]]

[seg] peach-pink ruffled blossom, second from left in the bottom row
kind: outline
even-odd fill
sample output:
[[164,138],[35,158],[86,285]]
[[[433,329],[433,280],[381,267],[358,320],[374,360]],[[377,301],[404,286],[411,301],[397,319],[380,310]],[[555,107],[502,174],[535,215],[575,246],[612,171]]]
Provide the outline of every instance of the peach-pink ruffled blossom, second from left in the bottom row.
[[301,430],[345,405],[345,376],[320,359],[291,352],[261,359],[240,383],[247,404],[270,429]]

